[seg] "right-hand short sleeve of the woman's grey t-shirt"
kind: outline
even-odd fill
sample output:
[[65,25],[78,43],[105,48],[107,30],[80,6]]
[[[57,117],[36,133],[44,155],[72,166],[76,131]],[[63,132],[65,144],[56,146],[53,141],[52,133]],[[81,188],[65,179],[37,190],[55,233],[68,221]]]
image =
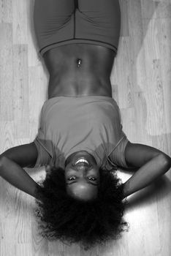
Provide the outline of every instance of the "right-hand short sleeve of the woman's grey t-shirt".
[[125,148],[128,142],[129,140],[126,138],[126,135],[123,136],[122,140],[118,143],[118,145],[115,147],[115,149],[108,157],[111,164],[129,168],[128,165],[126,165],[125,159]]

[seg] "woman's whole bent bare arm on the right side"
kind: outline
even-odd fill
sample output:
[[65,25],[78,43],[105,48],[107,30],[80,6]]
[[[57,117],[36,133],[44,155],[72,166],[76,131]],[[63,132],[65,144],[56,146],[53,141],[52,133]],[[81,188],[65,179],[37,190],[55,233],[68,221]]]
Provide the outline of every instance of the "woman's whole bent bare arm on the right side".
[[147,187],[171,167],[171,158],[151,146],[128,143],[125,157],[128,165],[140,169],[123,184],[123,198]]

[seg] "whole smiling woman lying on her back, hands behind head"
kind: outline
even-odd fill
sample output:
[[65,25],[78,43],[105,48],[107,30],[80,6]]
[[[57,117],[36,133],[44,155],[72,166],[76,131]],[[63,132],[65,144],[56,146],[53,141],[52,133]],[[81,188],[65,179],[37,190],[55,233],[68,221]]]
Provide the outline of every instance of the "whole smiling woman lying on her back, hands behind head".
[[[122,130],[110,83],[120,18],[118,0],[35,1],[39,53],[50,73],[48,99],[34,142],[0,157],[1,177],[37,198],[42,236],[87,248],[118,238],[128,225],[123,199],[171,166],[167,154],[129,142]],[[45,165],[39,184],[23,169]],[[138,170],[121,184],[117,167]]]

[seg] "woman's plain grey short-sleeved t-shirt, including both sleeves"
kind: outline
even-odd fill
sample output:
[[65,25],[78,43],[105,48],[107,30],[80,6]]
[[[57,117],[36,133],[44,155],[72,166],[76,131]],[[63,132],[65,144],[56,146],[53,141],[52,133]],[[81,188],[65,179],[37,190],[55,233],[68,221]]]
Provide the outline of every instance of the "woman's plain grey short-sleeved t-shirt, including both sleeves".
[[34,143],[34,167],[63,167],[70,154],[87,151],[100,167],[128,167],[124,151],[128,139],[122,130],[115,99],[105,96],[53,97],[42,106]]

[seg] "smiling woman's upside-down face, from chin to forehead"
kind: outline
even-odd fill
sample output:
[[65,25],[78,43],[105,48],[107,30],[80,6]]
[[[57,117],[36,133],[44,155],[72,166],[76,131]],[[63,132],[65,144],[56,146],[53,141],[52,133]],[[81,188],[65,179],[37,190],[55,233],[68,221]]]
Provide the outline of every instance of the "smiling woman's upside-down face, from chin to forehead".
[[66,159],[66,191],[72,197],[90,200],[96,197],[99,186],[99,167],[86,151],[78,151]]

